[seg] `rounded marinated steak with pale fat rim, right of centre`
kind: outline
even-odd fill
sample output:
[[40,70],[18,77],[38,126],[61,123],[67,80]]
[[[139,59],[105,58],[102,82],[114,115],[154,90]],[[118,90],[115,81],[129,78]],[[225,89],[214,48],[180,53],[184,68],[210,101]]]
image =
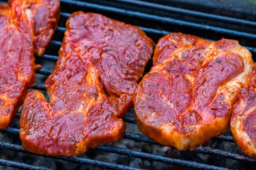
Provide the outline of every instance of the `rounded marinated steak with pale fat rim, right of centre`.
[[171,33],[157,43],[153,65],[133,94],[135,120],[150,139],[188,150],[229,129],[253,60],[236,40]]

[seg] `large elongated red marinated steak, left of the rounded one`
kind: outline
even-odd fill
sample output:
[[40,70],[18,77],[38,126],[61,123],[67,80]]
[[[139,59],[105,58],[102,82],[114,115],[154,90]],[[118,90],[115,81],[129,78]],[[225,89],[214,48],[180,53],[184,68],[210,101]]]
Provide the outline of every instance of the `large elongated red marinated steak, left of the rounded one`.
[[25,149],[74,156],[119,141],[122,117],[153,54],[153,41],[139,28],[96,13],[75,12],[54,71],[42,93],[31,91],[20,118]]

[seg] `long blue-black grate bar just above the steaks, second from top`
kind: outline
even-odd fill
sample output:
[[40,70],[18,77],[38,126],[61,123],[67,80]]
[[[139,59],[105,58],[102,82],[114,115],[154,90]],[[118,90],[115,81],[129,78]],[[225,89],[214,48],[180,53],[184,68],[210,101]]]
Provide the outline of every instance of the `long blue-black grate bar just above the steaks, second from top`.
[[131,17],[161,21],[161,22],[169,23],[169,24],[188,26],[188,27],[192,27],[195,29],[214,31],[216,33],[225,33],[225,34],[229,34],[229,35],[235,35],[235,36],[240,36],[240,37],[245,37],[245,38],[256,39],[256,35],[252,34],[252,33],[240,32],[240,31],[235,31],[235,30],[231,30],[231,29],[224,29],[224,28],[220,28],[220,27],[216,27],[216,26],[197,24],[194,22],[188,22],[188,21],[183,21],[183,20],[176,20],[176,19],[169,18],[169,17],[162,17],[162,16],[151,15],[151,14],[147,14],[147,13],[141,13],[141,12],[137,12],[137,11],[119,9],[119,8],[115,8],[115,7],[107,7],[107,6],[103,6],[103,5],[99,5],[99,4],[93,4],[93,3],[89,3],[89,2],[82,2],[82,1],[75,1],[75,0],[61,0],[61,2],[66,3],[66,4],[77,5],[80,7],[87,7],[87,8],[91,8],[91,9],[99,9],[99,10],[103,10],[103,11],[119,13],[121,15],[128,15]]

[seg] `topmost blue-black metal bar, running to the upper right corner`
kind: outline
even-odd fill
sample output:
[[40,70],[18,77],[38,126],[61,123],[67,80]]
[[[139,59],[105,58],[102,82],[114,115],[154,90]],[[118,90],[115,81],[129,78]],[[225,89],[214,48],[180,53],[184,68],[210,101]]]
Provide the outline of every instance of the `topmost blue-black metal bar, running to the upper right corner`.
[[230,22],[230,23],[235,23],[235,24],[256,26],[256,22],[254,22],[254,21],[243,20],[243,19],[239,19],[239,18],[231,18],[231,17],[227,17],[227,16],[215,15],[215,14],[204,13],[204,12],[199,12],[199,11],[192,11],[189,9],[171,7],[171,6],[167,6],[167,5],[156,4],[156,3],[146,2],[146,1],[140,1],[140,0],[113,0],[113,1],[125,2],[127,4],[134,4],[134,5],[141,6],[141,7],[150,7],[150,8],[154,8],[154,9],[161,9],[164,11],[181,13],[181,14],[185,14],[185,15],[200,17],[200,18],[208,18],[208,19]]

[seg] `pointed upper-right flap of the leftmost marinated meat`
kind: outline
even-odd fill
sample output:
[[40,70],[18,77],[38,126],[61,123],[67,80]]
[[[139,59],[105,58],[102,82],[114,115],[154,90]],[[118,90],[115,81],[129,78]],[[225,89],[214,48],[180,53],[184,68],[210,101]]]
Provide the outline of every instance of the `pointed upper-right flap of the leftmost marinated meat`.
[[[26,22],[34,44],[34,51],[43,55],[49,44],[61,14],[59,0],[9,0],[11,18],[19,23]],[[19,16],[20,15],[20,16]]]

